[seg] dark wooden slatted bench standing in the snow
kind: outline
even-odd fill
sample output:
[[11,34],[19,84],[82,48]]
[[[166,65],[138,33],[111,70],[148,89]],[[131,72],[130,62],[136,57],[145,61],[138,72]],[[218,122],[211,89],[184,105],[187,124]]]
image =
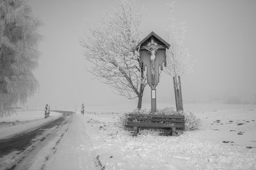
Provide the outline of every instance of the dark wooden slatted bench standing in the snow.
[[164,129],[168,134],[176,136],[176,130],[185,129],[182,115],[139,115],[129,114],[125,127],[133,129],[133,136],[137,136],[139,129]]

